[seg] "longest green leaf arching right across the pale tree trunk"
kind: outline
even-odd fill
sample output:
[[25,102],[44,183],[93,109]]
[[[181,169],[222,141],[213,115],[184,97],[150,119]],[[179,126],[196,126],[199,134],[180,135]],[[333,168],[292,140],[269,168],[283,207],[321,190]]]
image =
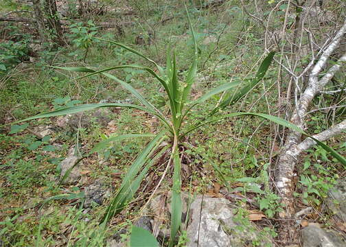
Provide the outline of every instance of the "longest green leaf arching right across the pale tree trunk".
[[216,119],[213,119],[210,121],[205,121],[202,124],[198,124],[196,126],[193,126],[189,130],[187,130],[185,133],[181,134],[181,136],[179,138],[184,137],[187,133],[189,133],[193,130],[196,130],[196,128],[200,128],[201,126],[205,126],[206,124],[215,123],[215,122],[220,121],[222,119],[225,119],[227,117],[237,117],[237,116],[242,116],[242,115],[252,115],[252,116],[257,116],[257,117],[263,117],[264,119],[268,119],[270,121],[273,121],[276,124],[279,124],[281,126],[285,126],[287,128],[290,128],[291,130],[295,130],[301,134],[305,134],[306,136],[308,136],[311,139],[313,139],[314,141],[316,141],[316,143],[319,144],[324,150],[326,150],[327,152],[332,154],[332,156],[334,156],[334,158],[336,158],[338,161],[340,161],[340,163],[342,163],[343,165],[346,165],[346,158],[344,158],[343,156],[338,154],[338,152],[336,152],[334,149],[330,148],[328,145],[325,145],[325,143],[315,139],[314,137],[311,137],[308,133],[301,130],[301,128],[299,128],[295,124],[290,123],[289,121],[286,121],[285,119],[281,119],[280,117],[275,117],[275,116],[271,116],[271,115],[264,114],[264,113],[230,113],[227,115],[223,115],[223,116],[218,117]]

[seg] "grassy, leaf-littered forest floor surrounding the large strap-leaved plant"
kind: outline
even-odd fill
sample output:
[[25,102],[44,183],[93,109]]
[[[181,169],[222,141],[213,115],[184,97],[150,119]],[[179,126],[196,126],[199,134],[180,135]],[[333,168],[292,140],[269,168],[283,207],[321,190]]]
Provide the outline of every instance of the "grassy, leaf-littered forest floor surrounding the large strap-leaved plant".
[[[178,76],[185,78],[194,54],[185,9],[178,4],[152,3],[150,7],[138,4],[126,6],[130,14],[121,17],[116,15],[125,7],[109,6],[109,11],[93,23],[109,23],[115,18],[119,25],[125,23],[122,31],[96,25],[95,36],[124,43],[163,66],[171,43],[176,51]],[[251,16],[233,1],[190,11],[200,48],[198,78],[191,98],[197,99],[224,82],[254,77],[265,54],[263,30]],[[13,62],[13,68],[0,74],[0,246],[86,246],[86,243],[111,246],[106,239],[141,217],[139,209],[146,204],[164,172],[163,166],[155,167],[150,180],[143,181],[137,199],[100,233],[95,229],[111,195],[151,137],[111,143],[102,152],[84,158],[78,165],[77,176],[60,184],[60,174],[65,169],[62,164],[67,163],[66,158],[88,154],[99,141],[112,134],[157,133],[162,127],[158,119],[140,110],[109,108],[12,125],[25,117],[81,103],[137,103],[135,97],[108,78],[94,75],[74,80],[80,73],[50,67],[98,70],[118,64],[148,65],[146,60],[102,41],[93,41],[88,49],[77,47],[77,42],[71,41],[76,41],[79,34],[71,32],[71,28],[66,27],[70,45],[55,51],[31,45],[32,54],[21,62]],[[22,33],[25,24],[3,25],[0,29],[1,40],[21,41],[16,51],[24,52],[30,40],[37,39],[34,32]],[[274,66],[270,67],[263,83],[225,112],[241,110],[285,117],[284,106],[278,102],[277,73]],[[155,107],[168,113],[168,99],[149,73],[128,68],[115,74],[150,99]],[[186,121],[196,123],[203,113],[213,110],[222,96],[214,95],[198,105]],[[327,105],[329,99],[323,100]],[[319,131],[329,126],[330,121],[324,112],[316,111],[310,114],[307,124]],[[203,126],[186,137],[185,143],[193,148],[182,161],[183,191],[226,198],[244,209],[237,211],[238,216],[255,223],[256,228],[264,229],[274,239],[273,246],[277,244],[279,224],[276,215],[281,210],[279,198],[273,192],[273,176],[283,144],[275,134],[276,128],[275,124],[257,117],[234,117]],[[332,139],[328,145],[346,154],[344,137]],[[308,150],[299,163],[295,189],[297,211],[312,208],[298,222],[299,227],[314,223],[346,233],[346,224],[335,220],[324,203],[327,191],[339,178],[345,177],[345,167],[322,148]],[[160,187],[161,194],[170,191],[172,171],[168,173],[168,179]],[[128,234],[123,231],[118,235],[125,240]],[[185,240],[179,245],[185,246]]]

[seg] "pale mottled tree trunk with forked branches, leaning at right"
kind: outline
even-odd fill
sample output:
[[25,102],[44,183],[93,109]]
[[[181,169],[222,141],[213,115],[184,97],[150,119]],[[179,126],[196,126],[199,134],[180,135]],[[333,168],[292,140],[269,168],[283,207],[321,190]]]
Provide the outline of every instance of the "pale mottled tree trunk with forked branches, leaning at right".
[[[307,113],[308,106],[312,102],[312,99],[314,99],[315,95],[319,93],[323,89],[325,84],[327,84],[327,82],[332,79],[336,71],[341,68],[341,64],[346,61],[346,54],[343,54],[338,62],[330,67],[323,78],[319,80],[319,73],[323,71],[327,60],[332,55],[334,49],[338,47],[341,38],[345,33],[346,19],[343,23],[343,26],[340,28],[340,30],[338,30],[334,38],[332,38],[332,42],[327,45],[321,57],[312,68],[312,71],[309,75],[308,86],[301,94],[292,117],[290,118],[290,121],[293,124],[299,126],[301,129],[304,128],[305,115]],[[334,134],[338,134],[339,131],[337,131],[337,128],[345,129],[345,126],[345,121],[343,121],[341,124],[334,127],[334,129],[331,128],[330,130],[321,132],[317,137],[324,141],[332,137]],[[297,240],[297,231],[294,228],[295,204],[293,191],[295,185],[292,180],[294,176],[295,165],[299,158],[299,154],[301,154],[304,148],[308,146],[310,147],[311,143],[313,143],[312,140],[303,141],[301,143],[301,134],[299,132],[291,131],[288,134],[283,152],[281,152],[281,155],[279,156],[279,163],[277,164],[276,185],[279,196],[281,197],[281,203],[285,205],[284,211],[281,211],[281,213],[279,213],[279,218],[280,220],[282,220],[279,228],[279,240],[281,242],[285,242],[286,244],[289,244],[292,239]]]

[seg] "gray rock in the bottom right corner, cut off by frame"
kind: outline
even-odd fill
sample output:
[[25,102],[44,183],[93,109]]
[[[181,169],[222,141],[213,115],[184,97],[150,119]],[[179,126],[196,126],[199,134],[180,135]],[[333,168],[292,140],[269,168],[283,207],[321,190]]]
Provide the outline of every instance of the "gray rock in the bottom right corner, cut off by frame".
[[318,226],[306,226],[301,231],[303,247],[345,247],[340,236],[334,231],[326,231]]

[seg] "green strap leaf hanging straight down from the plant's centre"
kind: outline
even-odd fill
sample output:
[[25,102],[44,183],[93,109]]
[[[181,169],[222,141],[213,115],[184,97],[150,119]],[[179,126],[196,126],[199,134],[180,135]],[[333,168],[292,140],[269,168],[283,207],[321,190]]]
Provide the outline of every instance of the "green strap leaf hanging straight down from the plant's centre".
[[173,187],[172,187],[172,215],[171,215],[171,234],[170,244],[174,245],[176,234],[181,226],[182,215],[182,202],[181,202],[181,159],[179,157],[178,148],[174,150],[173,162],[174,162],[174,174],[173,174]]

